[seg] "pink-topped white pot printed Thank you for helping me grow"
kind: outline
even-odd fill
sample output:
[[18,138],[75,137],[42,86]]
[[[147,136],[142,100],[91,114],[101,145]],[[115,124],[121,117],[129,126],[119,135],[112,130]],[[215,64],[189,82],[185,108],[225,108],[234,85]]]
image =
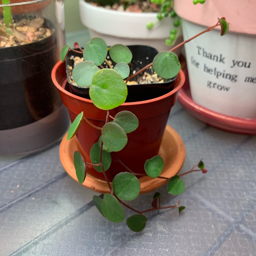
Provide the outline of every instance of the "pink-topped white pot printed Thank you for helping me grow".
[[184,40],[214,25],[218,17],[230,23],[223,37],[214,29],[185,45],[193,101],[214,112],[255,119],[256,1],[207,0],[193,5],[177,0],[175,10],[182,17]]

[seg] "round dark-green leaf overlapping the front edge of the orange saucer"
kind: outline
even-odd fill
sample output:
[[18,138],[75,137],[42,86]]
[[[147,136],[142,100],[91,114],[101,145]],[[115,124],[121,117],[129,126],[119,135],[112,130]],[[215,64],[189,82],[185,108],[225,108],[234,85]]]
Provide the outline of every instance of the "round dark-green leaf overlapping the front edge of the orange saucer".
[[116,196],[122,200],[130,201],[140,194],[140,182],[130,172],[118,173],[112,181],[112,186]]

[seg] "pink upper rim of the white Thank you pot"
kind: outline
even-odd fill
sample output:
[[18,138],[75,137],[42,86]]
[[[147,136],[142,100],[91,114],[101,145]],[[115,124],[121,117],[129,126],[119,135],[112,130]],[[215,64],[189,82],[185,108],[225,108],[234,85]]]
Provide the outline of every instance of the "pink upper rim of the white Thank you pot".
[[206,0],[196,5],[192,0],[177,0],[174,8],[181,18],[202,26],[213,26],[225,17],[229,31],[256,34],[255,0]]

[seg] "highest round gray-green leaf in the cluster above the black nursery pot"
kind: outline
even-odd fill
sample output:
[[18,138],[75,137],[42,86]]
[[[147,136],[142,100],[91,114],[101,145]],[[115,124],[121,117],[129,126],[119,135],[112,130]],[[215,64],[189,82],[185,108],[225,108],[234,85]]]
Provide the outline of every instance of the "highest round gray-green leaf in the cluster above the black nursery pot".
[[96,66],[100,66],[108,53],[108,46],[106,42],[99,37],[91,39],[84,47],[84,60],[90,60]]

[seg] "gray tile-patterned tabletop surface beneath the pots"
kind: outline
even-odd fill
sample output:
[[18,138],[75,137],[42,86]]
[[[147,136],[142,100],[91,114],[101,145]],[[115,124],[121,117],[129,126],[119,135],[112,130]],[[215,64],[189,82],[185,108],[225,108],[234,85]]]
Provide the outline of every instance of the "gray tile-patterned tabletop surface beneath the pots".
[[[186,209],[148,213],[141,233],[106,221],[93,191],[73,181],[59,143],[37,154],[0,158],[0,255],[256,255],[256,136],[228,133],[189,115],[179,103],[168,124],[182,137],[181,172],[203,157],[209,172],[184,176]],[[131,205],[148,208],[154,192]],[[125,210],[127,216],[130,210]]]

